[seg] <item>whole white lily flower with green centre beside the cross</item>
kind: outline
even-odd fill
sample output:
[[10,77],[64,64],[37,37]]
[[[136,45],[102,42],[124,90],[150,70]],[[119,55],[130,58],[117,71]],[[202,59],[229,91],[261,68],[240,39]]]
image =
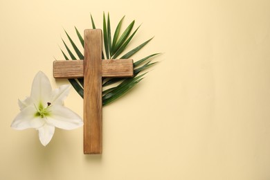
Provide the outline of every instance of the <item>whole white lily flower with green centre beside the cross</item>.
[[21,112],[15,117],[11,127],[18,130],[37,129],[40,142],[46,146],[53,138],[55,127],[75,129],[82,126],[82,118],[64,107],[69,89],[70,85],[66,84],[53,90],[47,76],[39,71],[33,80],[30,97],[19,100]]

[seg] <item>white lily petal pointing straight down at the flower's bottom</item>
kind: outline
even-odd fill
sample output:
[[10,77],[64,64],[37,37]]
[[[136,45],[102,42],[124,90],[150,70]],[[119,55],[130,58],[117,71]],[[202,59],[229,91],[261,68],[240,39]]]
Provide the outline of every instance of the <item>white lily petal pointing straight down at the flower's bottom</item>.
[[39,141],[42,145],[46,146],[50,143],[53,134],[55,133],[55,127],[52,125],[44,124],[44,126],[38,129],[39,131]]

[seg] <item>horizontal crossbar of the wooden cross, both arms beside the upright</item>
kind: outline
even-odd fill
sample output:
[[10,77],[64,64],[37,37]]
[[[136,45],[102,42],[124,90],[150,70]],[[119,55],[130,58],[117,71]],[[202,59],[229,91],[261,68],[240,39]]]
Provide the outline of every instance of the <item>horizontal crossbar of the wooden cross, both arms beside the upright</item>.
[[[53,62],[53,77],[58,79],[82,78],[83,60]],[[133,60],[102,60],[102,77],[129,78],[133,76]]]

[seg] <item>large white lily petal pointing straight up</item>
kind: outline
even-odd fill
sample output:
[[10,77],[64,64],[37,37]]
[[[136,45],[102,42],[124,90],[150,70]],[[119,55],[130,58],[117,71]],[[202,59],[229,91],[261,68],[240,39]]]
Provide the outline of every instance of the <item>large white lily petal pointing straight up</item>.
[[30,97],[36,106],[43,103],[42,105],[46,107],[46,103],[51,98],[51,93],[52,88],[48,77],[42,71],[39,71],[33,80]]

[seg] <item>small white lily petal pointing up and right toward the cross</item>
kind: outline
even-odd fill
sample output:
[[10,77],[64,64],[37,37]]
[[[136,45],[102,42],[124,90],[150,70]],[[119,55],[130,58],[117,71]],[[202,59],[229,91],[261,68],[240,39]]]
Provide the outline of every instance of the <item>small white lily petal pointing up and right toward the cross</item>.
[[58,89],[54,89],[51,97],[51,103],[53,105],[63,105],[64,99],[69,95],[70,87],[71,86],[69,84],[64,84]]

